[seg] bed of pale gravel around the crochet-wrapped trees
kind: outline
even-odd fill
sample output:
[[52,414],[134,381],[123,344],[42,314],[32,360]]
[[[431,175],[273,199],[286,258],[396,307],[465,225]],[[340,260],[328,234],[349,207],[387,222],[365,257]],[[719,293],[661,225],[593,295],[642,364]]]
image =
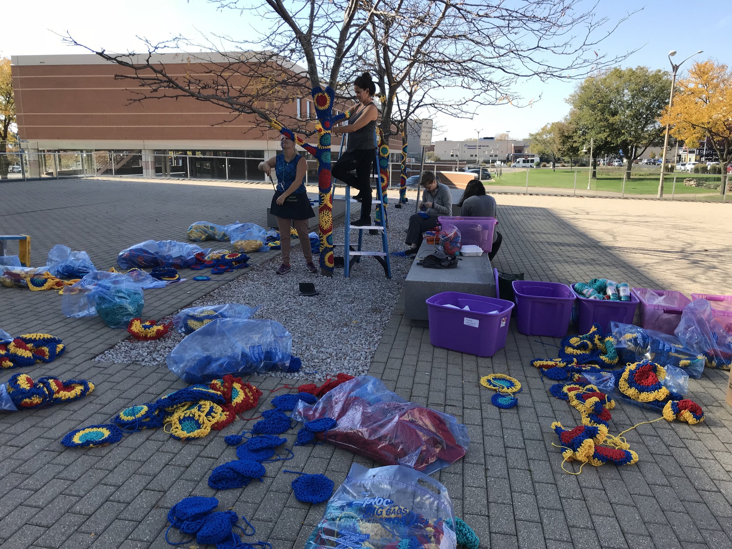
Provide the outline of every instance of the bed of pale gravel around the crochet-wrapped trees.
[[[389,198],[395,203],[398,192],[390,192]],[[376,209],[376,204],[374,206]],[[413,200],[403,209],[389,206],[386,234],[390,252],[406,247],[405,232],[413,213]],[[352,231],[351,237],[355,247],[358,232]],[[343,242],[343,220],[336,223],[333,238],[336,243]],[[381,236],[371,236],[364,231],[363,249],[381,250]],[[341,255],[343,247],[336,247],[335,253]],[[287,275],[275,272],[280,266],[280,256],[276,256],[191,306],[261,305],[253,318],[270,318],[283,324],[292,334],[293,354],[302,359],[302,369],[299,373],[270,372],[269,376],[318,381],[339,372],[358,376],[368,371],[412,263],[405,257],[392,255],[390,259],[391,279],[384,276],[383,267],[373,257],[363,257],[360,264],[354,264],[350,278],[343,276],[343,269],[335,269],[333,277],[321,277],[305,270],[302,250],[294,247],[292,269]],[[317,257],[314,261],[317,265]],[[319,294],[300,296],[301,282],[315,283]],[[125,340],[97,356],[97,360],[165,366],[165,355],[182,339],[183,336],[176,332],[157,341]]]

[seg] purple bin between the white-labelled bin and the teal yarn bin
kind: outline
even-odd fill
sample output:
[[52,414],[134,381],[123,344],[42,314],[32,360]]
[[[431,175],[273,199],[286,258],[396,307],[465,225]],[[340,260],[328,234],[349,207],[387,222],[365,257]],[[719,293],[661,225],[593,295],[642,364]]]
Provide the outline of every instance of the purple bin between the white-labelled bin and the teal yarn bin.
[[564,337],[569,329],[575,292],[566,284],[514,280],[516,325],[525,335]]

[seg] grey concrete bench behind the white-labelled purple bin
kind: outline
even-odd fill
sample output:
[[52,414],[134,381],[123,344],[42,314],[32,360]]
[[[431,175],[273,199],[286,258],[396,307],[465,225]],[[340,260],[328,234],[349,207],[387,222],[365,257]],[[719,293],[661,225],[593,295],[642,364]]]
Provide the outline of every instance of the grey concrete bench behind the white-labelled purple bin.
[[[435,249],[425,240],[417,252],[424,258]],[[427,320],[425,300],[443,291],[459,291],[463,294],[496,297],[496,278],[488,254],[466,257],[460,255],[455,269],[426,269],[417,260],[404,281],[404,318],[413,321]]]

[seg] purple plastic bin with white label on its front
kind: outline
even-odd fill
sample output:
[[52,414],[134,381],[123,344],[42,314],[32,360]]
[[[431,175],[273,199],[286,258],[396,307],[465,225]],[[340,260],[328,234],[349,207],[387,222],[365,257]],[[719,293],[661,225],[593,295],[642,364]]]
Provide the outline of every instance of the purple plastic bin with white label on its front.
[[[463,310],[466,305],[470,310]],[[504,299],[457,291],[432,296],[427,299],[430,343],[460,353],[493,356],[506,345],[512,308],[513,303]]]

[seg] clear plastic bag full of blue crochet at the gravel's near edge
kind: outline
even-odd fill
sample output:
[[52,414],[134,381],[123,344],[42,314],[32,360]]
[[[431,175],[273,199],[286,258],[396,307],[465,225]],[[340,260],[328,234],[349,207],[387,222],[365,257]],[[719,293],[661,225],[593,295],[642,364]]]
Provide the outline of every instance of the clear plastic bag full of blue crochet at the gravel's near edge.
[[279,322],[216,318],[187,335],[165,362],[186,383],[208,383],[228,373],[240,376],[287,371],[292,335]]

